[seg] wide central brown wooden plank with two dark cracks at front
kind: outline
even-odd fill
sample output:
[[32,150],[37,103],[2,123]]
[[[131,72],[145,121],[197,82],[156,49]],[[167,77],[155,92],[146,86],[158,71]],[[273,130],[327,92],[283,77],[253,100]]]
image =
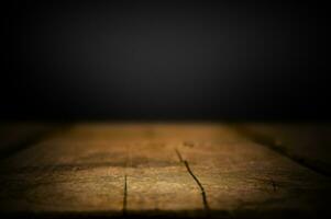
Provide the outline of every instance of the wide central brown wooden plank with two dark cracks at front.
[[222,124],[78,124],[1,162],[0,211],[315,217],[330,178]]

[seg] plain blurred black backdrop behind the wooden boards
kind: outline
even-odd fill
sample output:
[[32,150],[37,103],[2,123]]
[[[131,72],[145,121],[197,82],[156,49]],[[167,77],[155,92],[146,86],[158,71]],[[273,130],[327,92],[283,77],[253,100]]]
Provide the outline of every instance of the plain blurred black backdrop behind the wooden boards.
[[327,5],[12,1],[1,119],[330,118]]

